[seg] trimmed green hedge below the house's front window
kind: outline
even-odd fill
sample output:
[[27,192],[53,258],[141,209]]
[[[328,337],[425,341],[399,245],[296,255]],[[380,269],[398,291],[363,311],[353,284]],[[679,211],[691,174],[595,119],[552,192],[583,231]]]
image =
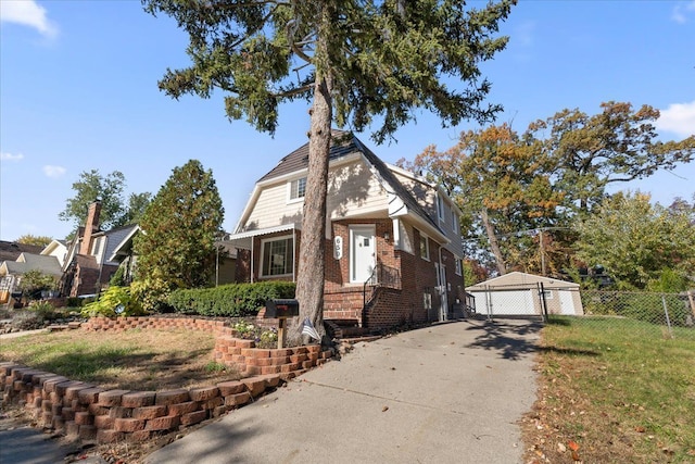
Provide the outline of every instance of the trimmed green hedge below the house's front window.
[[274,280],[175,290],[169,296],[169,304],[181,314],[243,317],[257,314],[268,299],[294,298],[295,287],[291,281]]

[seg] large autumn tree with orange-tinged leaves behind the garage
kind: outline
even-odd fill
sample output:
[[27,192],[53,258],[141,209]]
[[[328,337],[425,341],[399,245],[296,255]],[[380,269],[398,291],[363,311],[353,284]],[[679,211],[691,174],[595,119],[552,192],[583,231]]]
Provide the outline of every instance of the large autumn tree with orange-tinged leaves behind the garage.
[[469,255],[494,266],[559,275],[576,267],[574,221],[587,217],[611,184],[687,163],[695,136],[658,139],[659,111],[608,102],[586,115],[563,110],[517,134],[507,124],[460,134],[440,152],[430,146],[401,165],[440,183],[465,213]]

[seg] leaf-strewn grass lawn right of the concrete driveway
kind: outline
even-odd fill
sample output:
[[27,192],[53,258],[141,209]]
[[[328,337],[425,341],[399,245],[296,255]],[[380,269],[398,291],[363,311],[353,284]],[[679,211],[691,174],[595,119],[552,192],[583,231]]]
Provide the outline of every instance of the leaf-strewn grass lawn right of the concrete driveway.
[[539,399],[522,422],[527,463],[695,462],[695,341],[635,324],[646,323],[545,326]]

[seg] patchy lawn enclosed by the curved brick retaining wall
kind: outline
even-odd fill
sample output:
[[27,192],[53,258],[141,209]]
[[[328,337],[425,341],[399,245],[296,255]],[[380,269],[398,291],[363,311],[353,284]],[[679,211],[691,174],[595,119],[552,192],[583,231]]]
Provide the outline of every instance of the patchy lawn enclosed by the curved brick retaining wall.
[[213,361],[215,340],[195,330],[83,329],[0,341],[0,361],[81,380],[104,389],[140,391],[210,387],[241,378]]

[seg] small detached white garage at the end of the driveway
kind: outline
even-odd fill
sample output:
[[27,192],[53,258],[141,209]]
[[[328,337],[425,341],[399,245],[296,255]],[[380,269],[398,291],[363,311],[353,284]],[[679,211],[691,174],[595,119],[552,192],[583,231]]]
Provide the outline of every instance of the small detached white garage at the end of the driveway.
[[[579,284],[513,272],[467,287],[476,312],[490,316],[541,315],[543,298],[549,314],[584,314]],[[543,290],[543,293],[541,292]]]

